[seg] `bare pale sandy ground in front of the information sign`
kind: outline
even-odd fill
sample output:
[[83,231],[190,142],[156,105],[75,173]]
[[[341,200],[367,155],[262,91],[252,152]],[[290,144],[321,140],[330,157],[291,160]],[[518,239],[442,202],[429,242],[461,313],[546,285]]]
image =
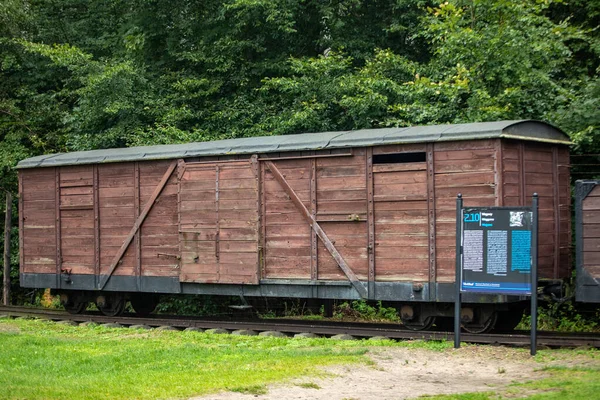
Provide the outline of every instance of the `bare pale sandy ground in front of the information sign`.
[[512,382],[536,380],[545,365],[600,366],[600,360],[566,352],[552,352],[543,362],[531,359],[527,350],[475,347],[443,352],[371,348],[372,365],[336,366],[319,370],[319,378],[296,379],[268,387],[264,395],[223,392],[196,397],[214,399],[412,399],[421,395],[502,391]]

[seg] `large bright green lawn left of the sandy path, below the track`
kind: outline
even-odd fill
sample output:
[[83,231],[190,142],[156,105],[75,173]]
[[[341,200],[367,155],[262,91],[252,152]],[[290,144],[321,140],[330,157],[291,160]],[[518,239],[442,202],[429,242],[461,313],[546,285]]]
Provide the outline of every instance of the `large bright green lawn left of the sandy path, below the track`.
[[314,376],[315,366],[363,363],[366,346],[441,350],[449,342],[332,341],[71,327],[0,320],[0,398],[187,398]]

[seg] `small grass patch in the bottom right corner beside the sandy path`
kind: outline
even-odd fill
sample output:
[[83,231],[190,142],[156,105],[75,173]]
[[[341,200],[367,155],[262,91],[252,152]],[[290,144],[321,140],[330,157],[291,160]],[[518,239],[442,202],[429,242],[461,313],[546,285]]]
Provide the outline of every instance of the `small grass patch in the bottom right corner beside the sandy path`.
[[536,381],[515,383],[502,393],[479,392],[453,395],[421,396],[428,400],[593,400],[600,393],[600,369],[544,367],[548,375]]

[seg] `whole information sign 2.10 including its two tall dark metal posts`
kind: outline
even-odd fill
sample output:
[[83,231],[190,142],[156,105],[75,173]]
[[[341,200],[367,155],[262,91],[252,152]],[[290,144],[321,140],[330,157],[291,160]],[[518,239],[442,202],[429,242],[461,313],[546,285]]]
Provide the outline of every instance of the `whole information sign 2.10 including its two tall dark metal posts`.
[[537,344],[538,196],[531,207],[467,207],[456,198],[454,347],[462,292],[531,296],[531,354]]

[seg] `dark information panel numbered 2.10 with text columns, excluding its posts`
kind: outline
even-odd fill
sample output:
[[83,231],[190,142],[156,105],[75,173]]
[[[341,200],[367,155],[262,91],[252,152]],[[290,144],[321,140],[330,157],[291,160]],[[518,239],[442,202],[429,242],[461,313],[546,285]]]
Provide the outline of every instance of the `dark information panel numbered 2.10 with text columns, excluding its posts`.
[[531,208],[464,208],[461,292],[531,294]]

